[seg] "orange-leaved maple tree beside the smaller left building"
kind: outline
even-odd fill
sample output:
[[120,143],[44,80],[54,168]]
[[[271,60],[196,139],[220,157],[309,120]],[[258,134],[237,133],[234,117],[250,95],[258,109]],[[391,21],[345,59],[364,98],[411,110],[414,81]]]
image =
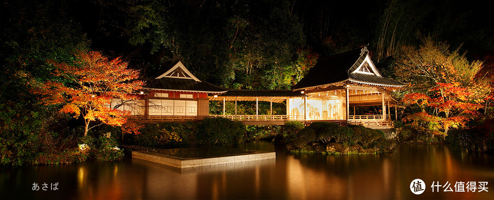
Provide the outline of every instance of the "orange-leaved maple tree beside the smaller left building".
[[[69,80],[66,83],[48,81],[39,93],[47,104],[62,104],[61,112],[84,119],[84,136],[98,125],[122,126],[130,111],[110,107],[113,99],[135,100],[136,91],[144,82],[137,80],[139,70],[127,68],[120,57],[109,60],[97,51],[78,52],[73,64],[49,61],[54,75]],[[99,121],[90,127],[90,123]]]

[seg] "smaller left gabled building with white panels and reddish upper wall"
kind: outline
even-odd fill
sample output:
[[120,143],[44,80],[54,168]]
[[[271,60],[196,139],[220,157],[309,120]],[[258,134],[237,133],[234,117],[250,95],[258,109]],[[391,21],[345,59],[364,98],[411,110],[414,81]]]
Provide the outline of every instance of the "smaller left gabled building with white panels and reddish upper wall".
[[[199,80],[181,61],[146,81],[147,97],[132,118],[142,121],[198,120],[209,116],[208,95],[227,89]],[[140,106],[139,106],[140,107]]]

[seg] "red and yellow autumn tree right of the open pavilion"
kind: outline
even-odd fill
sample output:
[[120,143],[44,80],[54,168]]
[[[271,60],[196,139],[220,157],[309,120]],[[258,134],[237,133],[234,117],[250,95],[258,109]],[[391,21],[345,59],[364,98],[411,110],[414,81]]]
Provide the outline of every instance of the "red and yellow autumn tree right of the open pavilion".
[[395,75],[408,83],[402,102],[418,108],[404,120],[420,131],[447,135],[479,114],[491,88],[476,77],[482,62],[469,62],[459,49],[451,52],[430,37],[422,40],[419,48],[404,46],[398,58]]

